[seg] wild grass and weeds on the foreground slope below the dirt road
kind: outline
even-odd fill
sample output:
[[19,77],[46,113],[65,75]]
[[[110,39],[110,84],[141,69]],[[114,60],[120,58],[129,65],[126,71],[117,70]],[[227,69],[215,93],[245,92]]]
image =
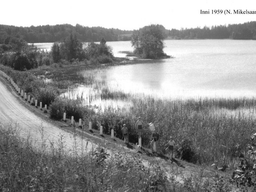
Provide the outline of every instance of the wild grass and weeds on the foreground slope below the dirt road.
[[[44,138],[43,127],[42,138]],[[46,141],[35,147],[18,137],[17,127],[0,124],[1,191],[210,191],[202,177],[186,177],[182,184],[152,162],[145,166],[137,157],[121,152],[108,154],[104,146],[78,153],[66,151],[63,136],[57,145]],[[76,132],[73,136],[77,137]],[[29,136],[28,136],[29,138]],[[136,174],[135,174],[136,173]]]

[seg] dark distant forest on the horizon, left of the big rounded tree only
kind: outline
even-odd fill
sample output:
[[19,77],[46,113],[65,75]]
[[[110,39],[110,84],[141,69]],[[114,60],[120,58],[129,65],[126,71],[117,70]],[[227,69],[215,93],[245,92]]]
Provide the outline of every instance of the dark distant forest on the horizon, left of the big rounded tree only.
[[79,24],[76,24],[76,26],[62,24],[30,27],[0,25],[0,44],[8,44],[8,39],[13,36],[28,43],[52,43],[63,41],[71,33],[84,42],[101,41],[103,37],[106,41],[127,41],[131,39],[130,36],[133,31],[107,29],[100,26],[88,27]]

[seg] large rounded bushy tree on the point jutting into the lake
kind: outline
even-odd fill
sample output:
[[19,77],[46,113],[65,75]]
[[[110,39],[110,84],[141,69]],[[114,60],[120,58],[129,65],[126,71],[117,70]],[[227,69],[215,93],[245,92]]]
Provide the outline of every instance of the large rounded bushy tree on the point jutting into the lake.
[[163,52],[166,38],[165,28],[162,25],[149,25],[135,31],[131,37],[134,52],[145,59],[167,58]]

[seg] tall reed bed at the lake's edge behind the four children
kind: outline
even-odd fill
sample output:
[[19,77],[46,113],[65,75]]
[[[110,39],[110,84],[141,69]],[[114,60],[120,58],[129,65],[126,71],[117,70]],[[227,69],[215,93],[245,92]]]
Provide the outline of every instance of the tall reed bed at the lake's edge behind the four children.
[[[138,142],[136,121],[140,116],[145,123],[154,122],[162,152],[165,152],[168,138],[173,136],[176,154],[182,152],[184,141],[190,141],[200,163],[211,164],[218,160],[229,164],[238,152],[245,151],[255,129],[255,106],[251,98],[163,100],[131,95],[129,99],[133,103],[129,111],[115,108],[100,111],[95,117],[97,124],[103,125],[107,132],[113,128],[118,137],[121,137],[121,125],[126,124],[130,140]],[[142,142],[149,147],[151,132],[147,126],[143,128]]]

